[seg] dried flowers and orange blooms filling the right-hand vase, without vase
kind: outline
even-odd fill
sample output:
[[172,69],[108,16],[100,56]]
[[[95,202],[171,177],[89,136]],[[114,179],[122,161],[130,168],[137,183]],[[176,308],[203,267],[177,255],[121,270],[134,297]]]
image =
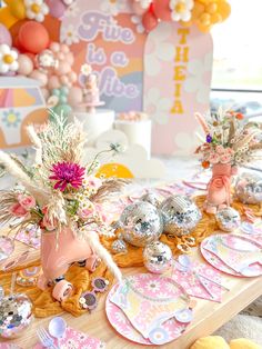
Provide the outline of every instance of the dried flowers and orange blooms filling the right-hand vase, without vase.
[[255,122],[244,123],[242,113],[220,108],[206,117],[196,113],[195,118],[205,133],[195,151],[202,156],[203,168],[215,163],[236,167],[261,159],[262,129]]

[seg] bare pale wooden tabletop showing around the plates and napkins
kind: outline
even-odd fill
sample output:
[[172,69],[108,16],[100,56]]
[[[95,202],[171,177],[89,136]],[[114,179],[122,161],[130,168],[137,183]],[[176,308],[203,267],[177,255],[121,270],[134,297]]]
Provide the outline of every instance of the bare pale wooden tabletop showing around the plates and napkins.
[[[20,253],[27,249],[27,246],[23,243],[16,243],[16,253]],[[38,258],[38,253],[39,252],[34,251],[31,255],[31,258]],[[202,260],[199,250],[195,250],[193,253],[195,259]],[[123,269],[124,275],[133,275],[144,271],[144,268]],[[188,349],[189,346],[192,345],[198,338],[211,335],[262,295],[262,278],[236,278],[223,275],[222,279],[223,285],[230,288],[230,291],[225,291],[223,293],[221,303],[195,298],[196,307],[194,308],[194,320],[188,327],[187,331],[179,339],[169,345],[161,347],[152,346],[151,348]],[[107,320],[104,301],[105,296],[101,298],[99,301],[99,307],[91,315],[87,313],[79,318],[74,318],[70,313],[63,313],[63,318],[72,328],[103,340],[107,343],[108,349],[142,348],[143,346],[135,345],[114,331]],[[39,326],[47,327],[49,320],[50,318],[36,319],[30,329],[26,331],[23,337],[12,340],[12,342],[19,345],[23,349],[33,348],[34,343],[38,341],[36,329]],[[3,340],[0,340],[0,342],[3,342]]]

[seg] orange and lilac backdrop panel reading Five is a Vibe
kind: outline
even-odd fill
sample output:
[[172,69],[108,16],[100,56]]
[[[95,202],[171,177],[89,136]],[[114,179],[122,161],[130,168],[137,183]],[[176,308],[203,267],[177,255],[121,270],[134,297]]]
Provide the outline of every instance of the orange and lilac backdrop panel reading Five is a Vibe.
[[143,103],[147,37],[137,32],[128,2],[123,11],[113,17],[110,1],[77,1],[61,28],[61,41],[72,44],[80,84],[81,64],[89,63],[98,72],[101,99],[117,112],[141,110]]

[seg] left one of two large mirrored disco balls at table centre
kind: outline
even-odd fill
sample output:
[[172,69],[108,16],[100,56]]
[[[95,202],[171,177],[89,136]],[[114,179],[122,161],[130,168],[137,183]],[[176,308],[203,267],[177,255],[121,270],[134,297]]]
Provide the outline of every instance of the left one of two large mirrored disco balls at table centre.
[[119,219],[123,239],[138,247],[159,239],[163,221],[158,209],[149,202],[138,201],[123,210]]

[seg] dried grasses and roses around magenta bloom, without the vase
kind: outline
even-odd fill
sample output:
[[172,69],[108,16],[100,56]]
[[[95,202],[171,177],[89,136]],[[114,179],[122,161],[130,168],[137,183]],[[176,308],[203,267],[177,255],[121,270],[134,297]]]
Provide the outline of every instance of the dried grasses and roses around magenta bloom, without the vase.
[[109,235],[110,228],[95,203],[109,200],[125,182],[92,173],[100,154],[118,152],[119,147],[111,144],[91,163],[84,163],[87,137],[82,124],[77,120],[67,123],[62,116],[52,117],[39,131],[33,126],[27,129],[36,150],[33,166],[0,151],[2,169],[21,185],[0,191],[0,222],[19,229],[33,223],[57,233],[67,226],[82,237],[90,230]]

